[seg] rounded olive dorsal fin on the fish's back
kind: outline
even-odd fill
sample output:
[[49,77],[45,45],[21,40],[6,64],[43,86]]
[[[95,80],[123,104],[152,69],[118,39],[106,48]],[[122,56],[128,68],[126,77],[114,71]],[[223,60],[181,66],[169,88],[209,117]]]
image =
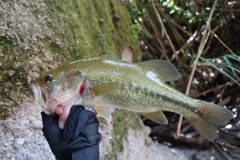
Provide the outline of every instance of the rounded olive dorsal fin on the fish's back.
[[160,79],[163,79],[165,82],[179,79],[181,76],[175,66],[169,61],[155,59],[139,62],[137,64],[147,71],[156,73]]

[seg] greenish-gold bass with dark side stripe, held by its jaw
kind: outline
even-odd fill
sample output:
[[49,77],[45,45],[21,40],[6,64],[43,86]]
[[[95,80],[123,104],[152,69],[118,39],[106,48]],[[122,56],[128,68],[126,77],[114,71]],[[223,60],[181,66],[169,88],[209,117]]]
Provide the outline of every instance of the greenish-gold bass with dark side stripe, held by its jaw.
[[225,125],[233,113],[190,98],[166,83],[180,77],[166,60],[127,63],[104,55],[59,66],[32,82],[31,88],[48,115],[53,115],[59,105],[68,109],[82,105],[94,108],[107,120],[111,108],[118,108],[167,124],[163,111],[170,111],[183,115],[202,137],[213,141],[217,127]]

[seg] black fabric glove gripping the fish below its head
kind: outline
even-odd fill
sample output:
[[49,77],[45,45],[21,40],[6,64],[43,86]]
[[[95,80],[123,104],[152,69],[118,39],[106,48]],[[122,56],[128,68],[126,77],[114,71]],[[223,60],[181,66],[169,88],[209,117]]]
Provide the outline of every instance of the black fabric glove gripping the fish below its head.
[[99,122],[95,114],[82,106],[73,106],[64,129],[58,126],[59,116],[41,113],[43,133],[58,160],[99,159]]

